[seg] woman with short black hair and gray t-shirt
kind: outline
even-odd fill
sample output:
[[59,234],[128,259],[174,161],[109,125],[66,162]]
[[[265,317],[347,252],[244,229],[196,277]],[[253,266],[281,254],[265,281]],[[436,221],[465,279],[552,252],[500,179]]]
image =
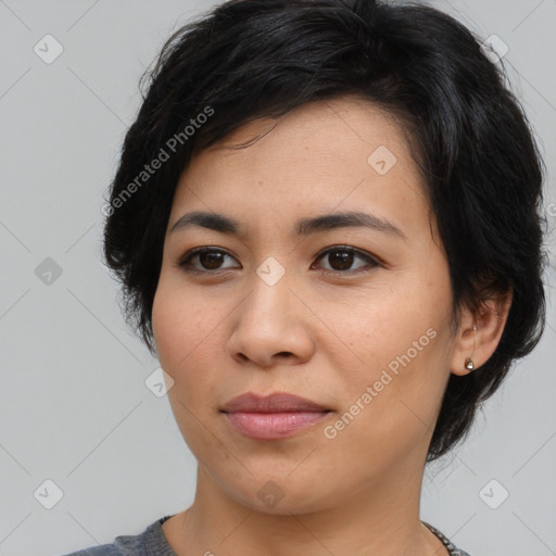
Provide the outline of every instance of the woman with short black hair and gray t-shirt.
[[197,492],[87,554],[465,556],[419,518],[425,465],[545,316],[542,161],[497,67],[425,5],[232,0],[150,77],[105,258]]

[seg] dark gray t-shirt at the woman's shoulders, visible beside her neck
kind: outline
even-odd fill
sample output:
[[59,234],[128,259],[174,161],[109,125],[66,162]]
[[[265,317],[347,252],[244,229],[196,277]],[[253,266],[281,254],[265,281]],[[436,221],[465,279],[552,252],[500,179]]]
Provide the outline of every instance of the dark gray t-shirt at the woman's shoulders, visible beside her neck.
[[[151,523],[142,533],[137,535],[116,536],[112,544],[103,544],[63,556],[177,556],[168,544],[162,523],[173,516],[164,516]],[[456,548],[438,529],[424,523],[442,541],[450,556],[470,556]]]

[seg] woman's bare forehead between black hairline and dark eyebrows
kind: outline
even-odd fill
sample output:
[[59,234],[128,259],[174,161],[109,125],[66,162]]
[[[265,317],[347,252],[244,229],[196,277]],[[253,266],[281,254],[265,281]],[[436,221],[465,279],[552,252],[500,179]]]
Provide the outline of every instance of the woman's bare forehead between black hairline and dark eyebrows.
[[420,207],[415,219],[426,204],[404,128],[368,101],[342,98],[251,122],[198,153],[169,224],[188,207],[283,222],[334,207],[394,218]]

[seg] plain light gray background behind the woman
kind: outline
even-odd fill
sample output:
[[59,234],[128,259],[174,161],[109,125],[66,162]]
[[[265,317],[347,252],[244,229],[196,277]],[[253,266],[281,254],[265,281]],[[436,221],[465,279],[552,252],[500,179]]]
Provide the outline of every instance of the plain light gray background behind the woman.
[[[112,542],[193,500],[194,458],[167,397],[144,383],[157,362],[126,328],[101,264],[101,206],[142,71],[177,25],[213,3],[0,0],[2,556]],[[547,204],[555,203],[556,1],[435,5],[509,47],[504,62],[540,138]],[[34,51],[47,34],[64,49],[50,64]],[[51,268],[47,257],[62,270],[50,283],[36,273]],[[552,258],[549,296],[555,274]],[[463,447],[426,473],[422,519],[472,556],[556,554],[549,303],[541,345],[489,401]],[[51,509],[48,479],[63,492]],[[509,496],[492,509],[486,502],[500,504],[502,489]]]

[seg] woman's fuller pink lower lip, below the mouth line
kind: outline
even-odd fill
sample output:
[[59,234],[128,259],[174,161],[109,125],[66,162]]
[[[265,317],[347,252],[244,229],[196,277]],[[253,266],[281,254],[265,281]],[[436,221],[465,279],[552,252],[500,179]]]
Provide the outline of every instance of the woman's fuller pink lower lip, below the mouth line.
[[229,422],[241,433],[252,439],[274,440],[290,437],[295,432],[323,420],[329,412],[288,413],[227,413]]

